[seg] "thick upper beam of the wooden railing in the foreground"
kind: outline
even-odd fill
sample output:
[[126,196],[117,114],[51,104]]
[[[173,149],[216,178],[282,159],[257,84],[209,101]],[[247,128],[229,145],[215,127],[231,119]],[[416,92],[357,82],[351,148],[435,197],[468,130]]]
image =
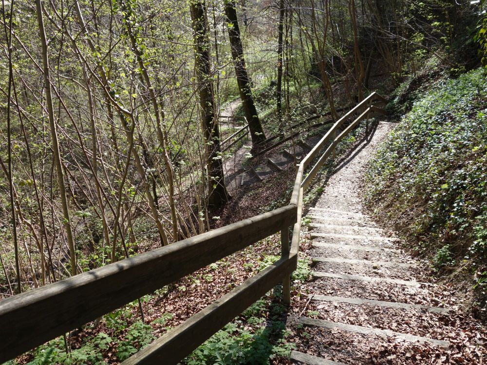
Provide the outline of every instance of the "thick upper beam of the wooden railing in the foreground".
[[1,300],[0,364],[294,224],[296,214],[287,205]]

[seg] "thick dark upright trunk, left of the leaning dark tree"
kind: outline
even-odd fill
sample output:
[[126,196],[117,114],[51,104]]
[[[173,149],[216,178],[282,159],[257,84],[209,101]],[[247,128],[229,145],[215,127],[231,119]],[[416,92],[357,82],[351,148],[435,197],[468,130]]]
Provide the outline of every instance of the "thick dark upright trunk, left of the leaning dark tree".
[[208,174],[208,205],[220,207],[228,201],[222,159],[220,158],[220,130],[216,118],[213,83],[210,71],[210,40],[206,21],[205,0],[191,1],[191,20],[194,33],[195,73],[201,108],[201,128],[205,138],[206,169]]

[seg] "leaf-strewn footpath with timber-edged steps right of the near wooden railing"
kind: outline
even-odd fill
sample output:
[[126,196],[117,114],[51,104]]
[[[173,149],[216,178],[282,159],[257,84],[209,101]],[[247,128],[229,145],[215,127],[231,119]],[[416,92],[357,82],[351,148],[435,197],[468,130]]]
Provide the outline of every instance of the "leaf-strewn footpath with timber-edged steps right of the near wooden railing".
[[361,205],[366,164],[393,126],[378,124],[307,213],[314,280],[288,318],[293,364],[465,364],[467,353],[486,354],[481,325]]

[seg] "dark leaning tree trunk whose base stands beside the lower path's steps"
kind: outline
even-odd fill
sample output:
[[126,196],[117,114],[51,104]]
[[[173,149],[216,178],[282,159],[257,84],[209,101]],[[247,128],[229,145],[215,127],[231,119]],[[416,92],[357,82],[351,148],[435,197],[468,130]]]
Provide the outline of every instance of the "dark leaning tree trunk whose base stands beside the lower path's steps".
[[259,116],[257,115],[257,110],[255,109],[250,80],[245,66],[244,49],[242,47],[242,38],[237,18],[236,0],[225,0],[225,16],[240,98],[244,105],[245,117],[247,118],[250,136],[252,137],[252,148],[255,149],[259,143],[265,141],[265,134]]

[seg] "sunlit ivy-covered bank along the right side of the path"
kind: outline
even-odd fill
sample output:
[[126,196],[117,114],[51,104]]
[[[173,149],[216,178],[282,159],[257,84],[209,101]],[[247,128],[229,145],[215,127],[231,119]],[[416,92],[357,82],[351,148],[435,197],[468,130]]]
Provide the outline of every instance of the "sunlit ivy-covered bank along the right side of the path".
[[434,82],[366,172],[365,202],[431,258],[461,267],[484,297],[487,277],[487,70]]

